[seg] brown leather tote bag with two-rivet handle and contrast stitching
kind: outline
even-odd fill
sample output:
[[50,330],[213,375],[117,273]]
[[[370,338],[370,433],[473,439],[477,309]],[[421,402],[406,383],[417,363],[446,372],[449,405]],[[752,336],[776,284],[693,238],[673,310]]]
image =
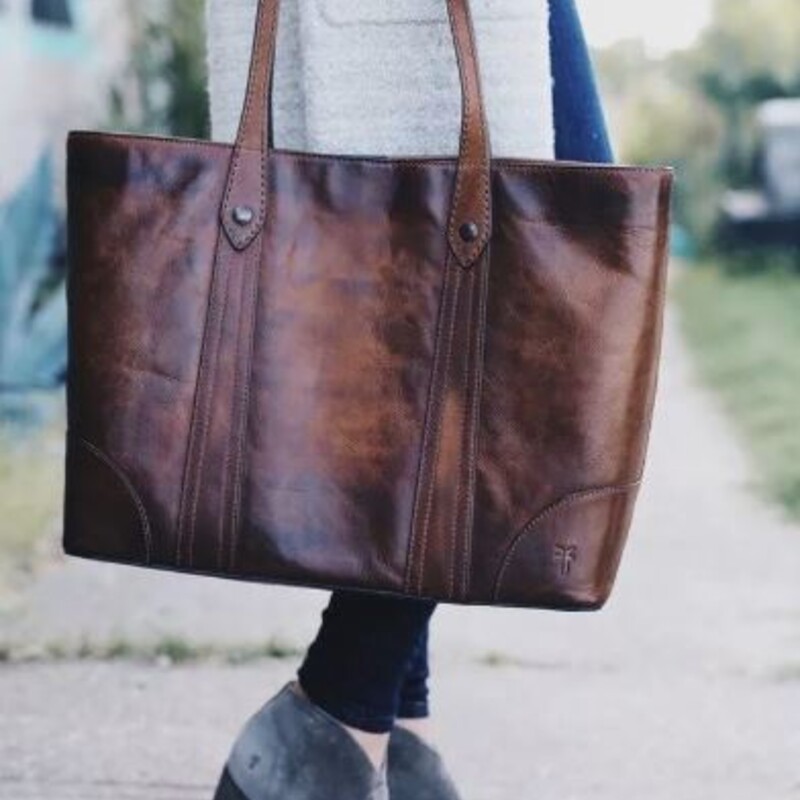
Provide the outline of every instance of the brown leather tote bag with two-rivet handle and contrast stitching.
[[[234,145],[72,131],[64,548],[593,609],[642,476],[671,172],[275,149],[277,0]],[[368,124],[365,119],[364,124]]]

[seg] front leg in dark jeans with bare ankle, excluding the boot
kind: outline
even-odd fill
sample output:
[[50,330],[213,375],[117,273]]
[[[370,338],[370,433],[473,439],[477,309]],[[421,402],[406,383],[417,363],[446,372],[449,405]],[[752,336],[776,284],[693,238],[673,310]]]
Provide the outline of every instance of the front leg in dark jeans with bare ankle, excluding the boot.
[[307,697],[348,727],[376,762],[434,608],[426,600],[334,592],[298,670]]

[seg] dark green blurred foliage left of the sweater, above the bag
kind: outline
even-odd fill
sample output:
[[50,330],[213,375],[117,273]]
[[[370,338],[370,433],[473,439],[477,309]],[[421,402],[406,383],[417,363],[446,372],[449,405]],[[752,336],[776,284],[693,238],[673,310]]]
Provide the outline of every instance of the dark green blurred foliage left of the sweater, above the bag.
[[206,138],[204,0],[132,3],[135,47],[130,73],[136,108],[120,89],[112,90],[115,126],[173,136]]

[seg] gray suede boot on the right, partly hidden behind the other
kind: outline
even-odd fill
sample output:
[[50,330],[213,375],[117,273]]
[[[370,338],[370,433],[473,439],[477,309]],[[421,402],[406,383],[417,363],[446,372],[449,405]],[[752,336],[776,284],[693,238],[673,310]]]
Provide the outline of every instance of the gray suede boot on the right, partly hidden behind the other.
[[399,725],[389,738],[392,800],[461,800],[438,751]]

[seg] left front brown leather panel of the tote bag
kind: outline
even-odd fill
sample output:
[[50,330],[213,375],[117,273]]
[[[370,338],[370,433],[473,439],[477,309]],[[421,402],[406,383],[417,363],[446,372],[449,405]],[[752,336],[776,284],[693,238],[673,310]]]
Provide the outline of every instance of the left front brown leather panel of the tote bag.
[[[228,150],[94,134],[68,147],[67,424],[88,444],[68,449],[65,547],[123,559],[108,504],[84,506],[127,484],[149,520],[147,560],[170,566]],[[98,478],[87,447],[116,480]]]

